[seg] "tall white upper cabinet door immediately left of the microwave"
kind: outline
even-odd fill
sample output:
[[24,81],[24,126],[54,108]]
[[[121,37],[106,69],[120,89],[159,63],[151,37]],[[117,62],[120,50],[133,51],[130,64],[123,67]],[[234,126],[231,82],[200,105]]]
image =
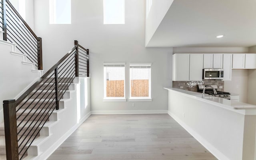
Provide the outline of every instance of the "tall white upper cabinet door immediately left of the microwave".
[[190,54],[189,80],[202,80],[203,61],[203,54]]

